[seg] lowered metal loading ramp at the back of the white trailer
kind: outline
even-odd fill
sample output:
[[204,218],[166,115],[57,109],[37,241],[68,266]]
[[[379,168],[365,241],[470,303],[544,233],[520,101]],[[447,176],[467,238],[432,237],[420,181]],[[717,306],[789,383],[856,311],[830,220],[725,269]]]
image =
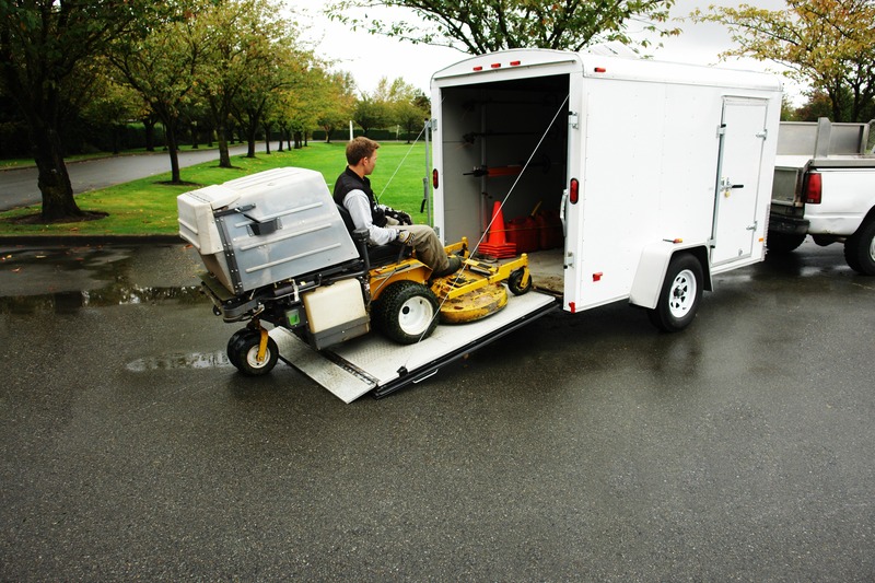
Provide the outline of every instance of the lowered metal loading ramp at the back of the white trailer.
[[386,396],[428,378],[438,370],[492,340],[558,307],[556,298],[536,291],[511,296],[508,305],[479,322],[441,324],[419,343],[399,346],[378,333],[316,351],[285,328],[273,328],[280,358],[334,393],[352,403],[365,393]]

